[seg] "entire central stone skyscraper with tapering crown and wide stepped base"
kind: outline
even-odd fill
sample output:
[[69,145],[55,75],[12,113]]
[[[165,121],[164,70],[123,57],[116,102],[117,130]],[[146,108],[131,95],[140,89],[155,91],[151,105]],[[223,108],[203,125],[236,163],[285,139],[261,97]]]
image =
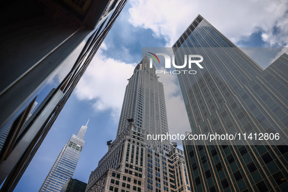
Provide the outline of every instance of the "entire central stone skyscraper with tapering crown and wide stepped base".
[[147,134],[169,132],[163,84],[147,54],[128,80],[116,138],[107,142],[86,192],[190,190],[183,152],[175,152],[169,140],[147,140]]

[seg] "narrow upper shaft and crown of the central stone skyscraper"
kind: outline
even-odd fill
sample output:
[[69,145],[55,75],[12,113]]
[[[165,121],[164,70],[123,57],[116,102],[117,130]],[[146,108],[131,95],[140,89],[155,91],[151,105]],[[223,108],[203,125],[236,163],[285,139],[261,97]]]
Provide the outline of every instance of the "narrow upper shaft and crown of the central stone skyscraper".
[[[166,134],[168,121],[163,84],[155,75],[155,67],[149,67],[147,54],[135,67],[133,76],[125,90],[122,110],[119,119],[117,135],[120,135],[128,125],[127,119],[146,131],[147,134]],[[150,141],[158,147],[160,141]],[[169,141],[164,141],[168,145]]]

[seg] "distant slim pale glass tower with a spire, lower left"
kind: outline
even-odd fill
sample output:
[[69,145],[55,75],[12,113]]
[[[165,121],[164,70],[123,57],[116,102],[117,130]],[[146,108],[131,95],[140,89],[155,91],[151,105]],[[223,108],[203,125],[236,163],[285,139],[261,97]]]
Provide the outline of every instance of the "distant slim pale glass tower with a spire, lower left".
[[73,177],[83,149],[83,139],[87,124],[86,126],[81,126],[77,135],[73,134],[71,136],[52,166],[39,192],[60,192],[68,179]]

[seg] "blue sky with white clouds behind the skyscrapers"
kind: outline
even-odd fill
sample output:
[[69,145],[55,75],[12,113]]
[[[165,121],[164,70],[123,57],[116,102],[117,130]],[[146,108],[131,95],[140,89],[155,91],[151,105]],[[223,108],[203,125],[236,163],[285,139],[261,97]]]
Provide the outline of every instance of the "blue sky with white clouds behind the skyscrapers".
[[[128,0],[15,192],[37,192],[69,138],[90,119],[74,174],[87,183],[107,153],[106,141],[115,139],[127,79],[142,48],[171,47],[198,14],[248,55],[253,50],[246,47],[280,47],[267,63],[258,57],[263,68],[288,47],[288,0]],[[161,75],[159,81],[170,133],[190,131],[176,75]]]

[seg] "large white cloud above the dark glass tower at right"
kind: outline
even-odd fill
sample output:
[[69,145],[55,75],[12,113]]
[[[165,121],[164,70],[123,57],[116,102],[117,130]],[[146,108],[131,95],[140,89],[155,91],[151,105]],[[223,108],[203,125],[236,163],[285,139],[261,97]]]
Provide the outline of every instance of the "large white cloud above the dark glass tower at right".
[[180,37],[198,14],[234,43],[255,32],[267,46],[288,45],[288,0],[130,0],[129,21],[168,40]]

